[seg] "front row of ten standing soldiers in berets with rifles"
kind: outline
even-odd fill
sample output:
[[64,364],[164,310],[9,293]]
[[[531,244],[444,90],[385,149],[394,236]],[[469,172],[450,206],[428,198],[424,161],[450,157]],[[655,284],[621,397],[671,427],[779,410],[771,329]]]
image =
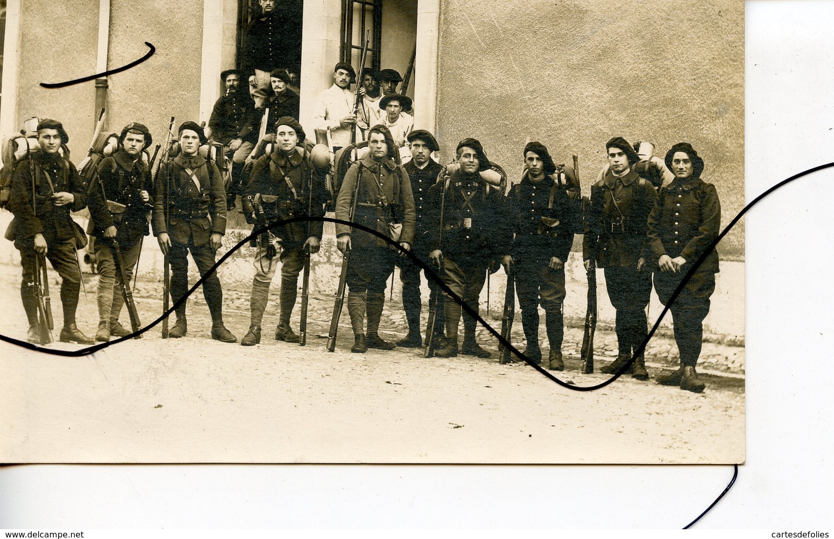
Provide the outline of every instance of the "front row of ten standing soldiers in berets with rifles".
[[[242,192],[243,213],[249,222],[256,228],[269,227],[256,242],[251,320],[243,345],[260,342],[276,258],[281,263],[281,285],[275,339],[299,342],[290,325],[299,273],[305,265],[309,269],[309,255],[319,251],[323,226],[314,219],[325,214],[330,199],[334,199],[335,218],[342,221],[336,225],[336,244],[346,259],[344,284],[354,331],[350,350],[355,353],[424,345],[420,322],[423,270],[431,274],[425,276],[430,288],[430,327],[425,334],[427,338],[432,335],[435,355],[490,357],[490,351],[475,338],[475,318],[463,312],[461,304],[478,314],[486,276],[503,266],[518,295],[525,355],[542,363],[541,306],[549,346],[545,367],[563,370],[565,263],[574,235],[584,233],[585,269],[604,269],[616,310],[618,355],[601,371],[619,372],[646,339],[652,277],[661,301],[668,303],[688,264],[699,259],[718,234],[721,208],[716,189],[701,179],[703,160],[686,143],[673,146],[665,160],[641,159],[625,139],[610,139],[605,144],[608,164],[590,189],[590,204],[580,209],[575,169],[556,164],[538,142],[526,144],[520,153],[524,172],[520,182],[505,193],[503,170],[490,162],[477,139],[460,141],[455,160],[441,166],[431,159],[431,154],[440,151],[434,135],[411,130],[405,135],[411,159],[401,164],[394,134],[386,125],[377,124],[365,133],[367,153],[357,152],[338,191],[331,193],[325,180],[329,162],[323,164],[320,156],[316,159],[316,148],[309,141],[305,144],[307,137],[298,120],[283,116],[271,127],[272,146],[254,161]],[[227,199],[217,164],[199,151],[208,143],[204,129],[194,122],[180,124],[178,153],[168,154],[153,179],[142,157],[152,144],[151,133],[141,123],[128,123],[118,137],[118,150],[100,161],[89,184],[61,154],[68,143],[63,125],[44,119],[37,132],[39,151],[14,169],[9,201],[15,216],[13,240],[23,265],[21,297],[30,325],[28,340],[42,342],[33,289],[38,257],[49,259],[62,278],[60,340],[93,344],[130,335],[119,315],[149,223],[170,264],[170,299],[176,304],[188,290],[190,252],[205,277],[203,295],[212,317],[211,337],[236,342],[224,325],[219,278],[214,272],[206,275],[226,230]],[[70,212],[84,207],[89,209],[88,230],[98,258],[99,322],[94,338],[79,330],[75,321],[82,276],[76,254],[79,227]],[[120,246],[118,252],[114,244]],[[422,264],[415,264],[407,252]],[[408,334],[396,343],[379,335],[384,292],[395,265],[400,267],[408,320]],[[718,258],[712,249],[671,303],[681,368],[659,376],[663,384],[704,389],[695,366],[717,271]],[[444,283],[452,295],[441,294],[435,280]],[[187,332],[183,300],[168,336],[183,337]],[[643,353],[628,372],[638,380],[648,378]]]

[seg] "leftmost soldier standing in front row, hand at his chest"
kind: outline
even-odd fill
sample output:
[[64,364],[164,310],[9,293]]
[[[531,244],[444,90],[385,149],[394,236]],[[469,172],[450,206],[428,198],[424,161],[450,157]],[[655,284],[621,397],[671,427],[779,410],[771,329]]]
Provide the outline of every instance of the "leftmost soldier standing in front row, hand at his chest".
[[[38,153],[14,169],[8,208],[14,214],[14,246],[20,251],[23,281],[20,297],[29,321],[28,340],[40,343],[38,299],[33,290],[36,254],[45,255],[61,276],[63,328],[60,340],[91,345],[75,324],[81,270],[76,235],[83,234],[70,216],[87,206],[87,191],[75,165],[60,154],[69,142],[63,124],[44,119],[38,123]],[[33,177],[34,175],[34,177]]]

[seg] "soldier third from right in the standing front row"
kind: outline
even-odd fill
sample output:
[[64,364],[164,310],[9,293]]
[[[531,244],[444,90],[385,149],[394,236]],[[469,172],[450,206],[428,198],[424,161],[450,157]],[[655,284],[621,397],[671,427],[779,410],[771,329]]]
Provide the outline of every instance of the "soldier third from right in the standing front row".
[[567,192],[571,189],[578,193],[580,185],[571,167],[556,168],[544,144],[527,144],[524,159],[526,170],[521,182],[507,194],[515,239],[510,254],[502,263],[508,275],[510,270],[515,271],[515,292],[527,339],[525,355],[536,364],[541,363],[541,305],[545,310],[545,329],[550,343],[547,367],[564,370],[565,262],[574,236]]

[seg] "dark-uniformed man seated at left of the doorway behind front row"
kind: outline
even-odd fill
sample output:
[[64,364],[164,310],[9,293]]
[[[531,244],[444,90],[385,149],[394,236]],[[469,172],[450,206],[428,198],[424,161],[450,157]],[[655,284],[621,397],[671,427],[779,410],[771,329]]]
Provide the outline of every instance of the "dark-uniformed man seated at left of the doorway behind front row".
[[208,118],[209,135],[228,148],[232,154],[232,182],[226,193],[229,209],[234,208],[234,199],[243,187],[243,171],[246,158],[252,152],[257,141],[258,131],[253,123],[257,121],[255,102],[249,92],[241,86],[241,74],[237,69],[226,69],[220,73],[226,85],[226,93],[214,103],[211,117]]

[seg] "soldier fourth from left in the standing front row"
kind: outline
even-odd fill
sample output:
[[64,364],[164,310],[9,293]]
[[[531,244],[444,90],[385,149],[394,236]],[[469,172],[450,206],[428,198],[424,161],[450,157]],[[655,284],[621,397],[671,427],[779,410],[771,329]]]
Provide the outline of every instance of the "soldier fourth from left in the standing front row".
[[[320,217],[324,215],[324,201],[327,200],[324,180],[304,153],[296,149],[304,141],[304,129],[299,122],[289,116],[279,118],[275,123],[275,131],[274,152],[255,161],[243,204],[244,214],[256,227],[308,213]],[[310,202],[312,210],[309,210]],[[261,211],[264,214],[259,217]],[[275,339],[299,342],[299,336],[289,327],[289,318],[295,306],[299,273],[304,268],[304,250],[309,250],[311,254],[318,253],[321,234],[321,221],[290,223],[272,229],[267,235],[270,239],[274,236],[278,246],[271,241],[269,244],[259,241],[249,303],[252,320],[249,333],[240,341],[241,345],[252,346],[260,342],[261,320],[264,318],[278,254],[281,261],[281,311]]]

